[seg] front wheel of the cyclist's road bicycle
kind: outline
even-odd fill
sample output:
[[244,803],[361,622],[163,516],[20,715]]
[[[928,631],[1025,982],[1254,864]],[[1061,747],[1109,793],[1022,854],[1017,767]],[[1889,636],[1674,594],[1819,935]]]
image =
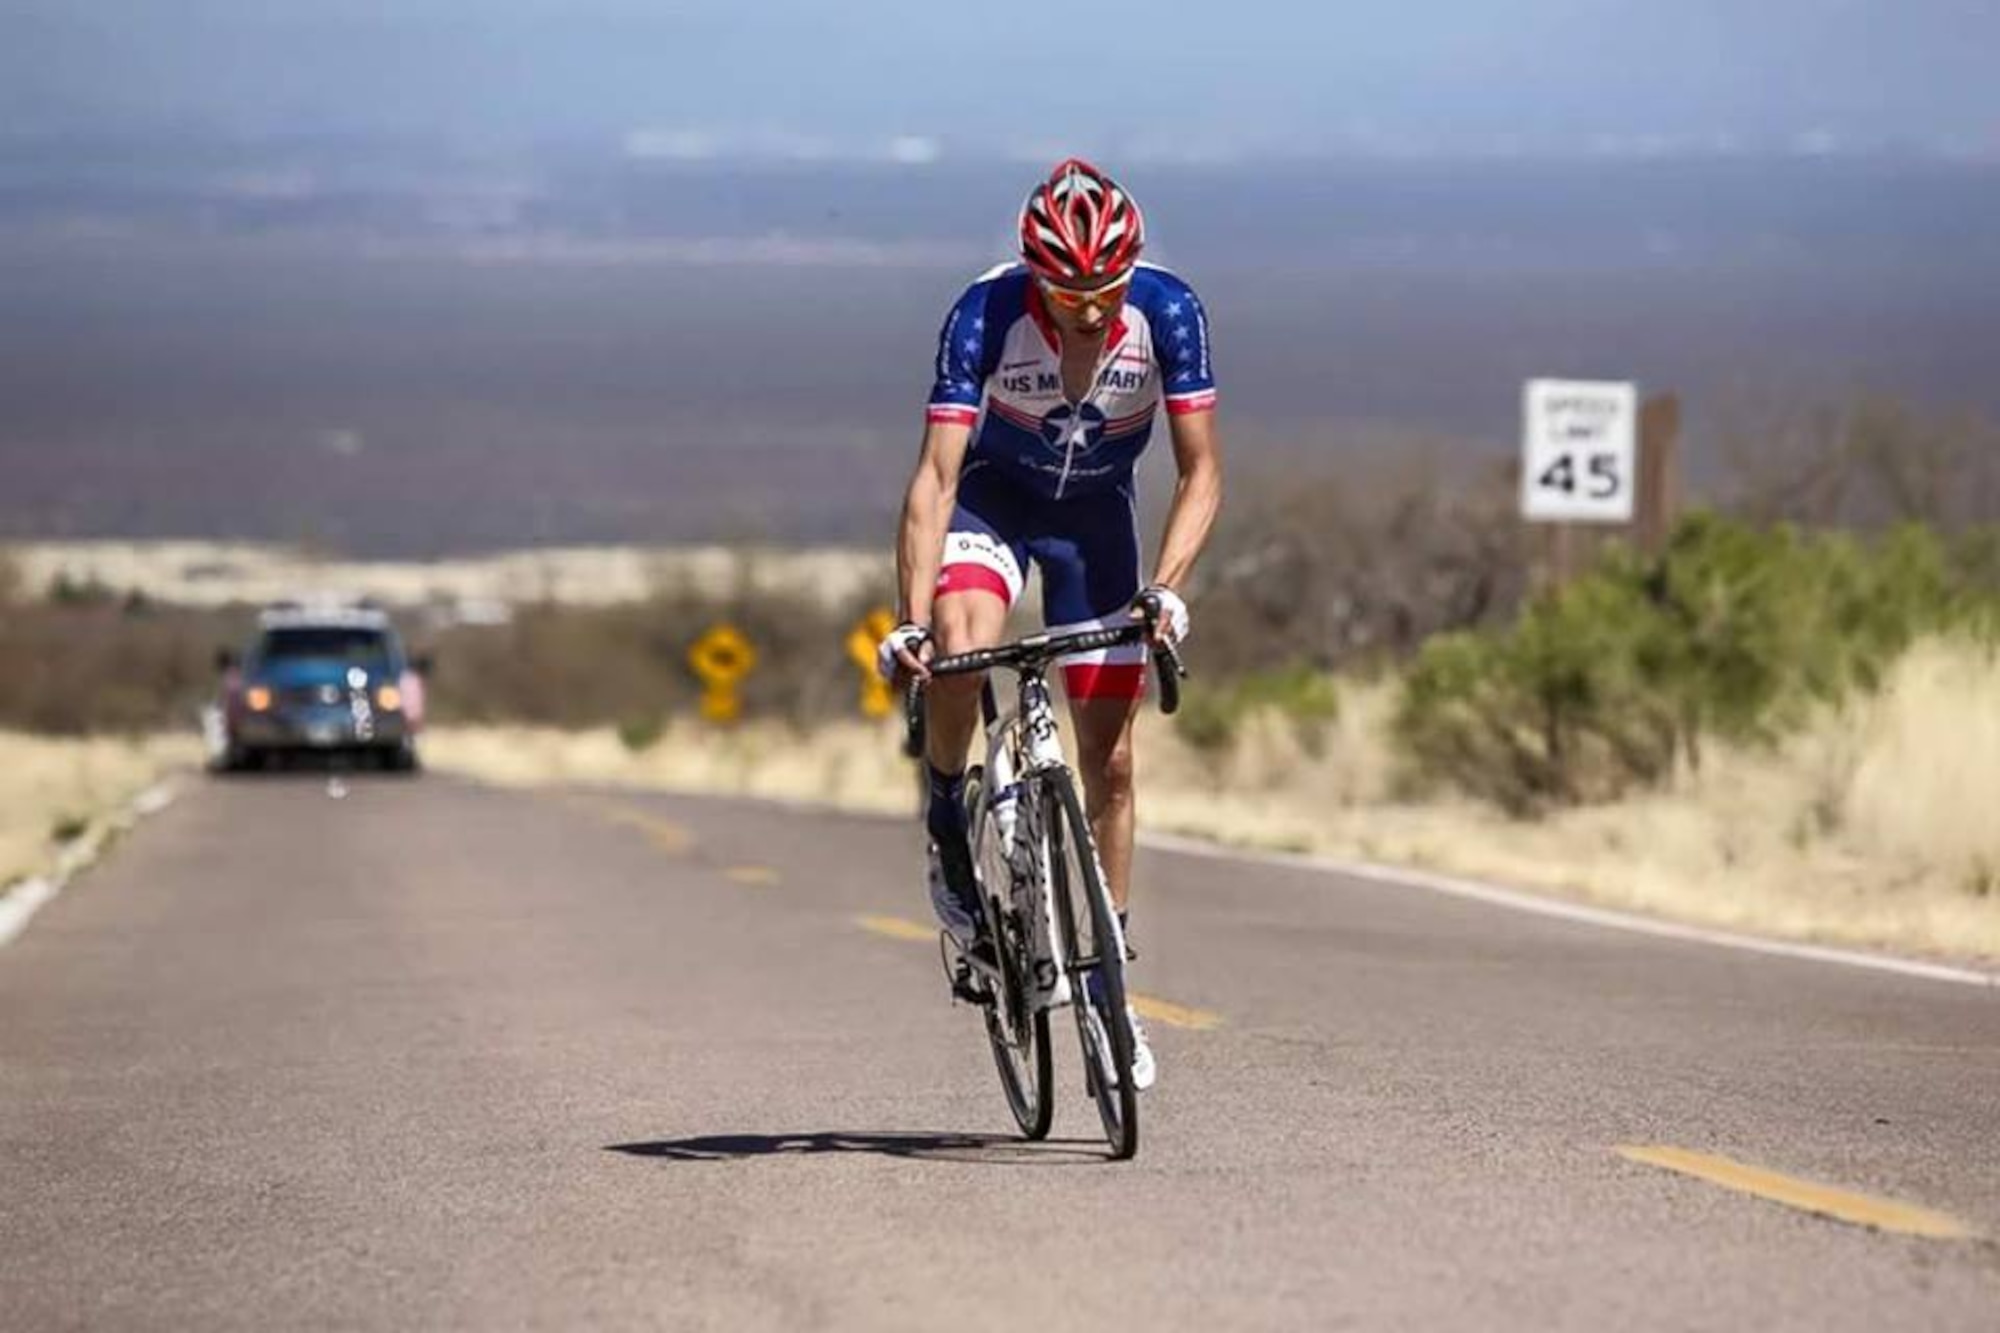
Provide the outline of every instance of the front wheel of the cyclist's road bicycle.
[[1050,891],[1062,933],[1064,971],[1084,1045],[1084,1083],[1098,1105],[1114,1161],[1138,1153],[1138,1091],[1132,1087],[1132,1025],[1126,1015],[1124,937],[1076,783],[1056,771],[1042,779]]

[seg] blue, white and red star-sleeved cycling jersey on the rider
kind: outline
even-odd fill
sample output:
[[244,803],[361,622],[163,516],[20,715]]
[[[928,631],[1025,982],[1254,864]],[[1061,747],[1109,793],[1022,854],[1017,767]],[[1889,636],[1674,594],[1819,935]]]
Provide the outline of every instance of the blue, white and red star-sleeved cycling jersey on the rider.
[[1134,268],[1098,378],[1070,402],[1042,292],[1022,264],[1006,264],[982,274],[946,316],[928,418],[976,426],[968,464],[1064,498],[1130,488],[1162,400],[1168,412],[1216,404],[1208,316],[1194,288],[1166,268]]

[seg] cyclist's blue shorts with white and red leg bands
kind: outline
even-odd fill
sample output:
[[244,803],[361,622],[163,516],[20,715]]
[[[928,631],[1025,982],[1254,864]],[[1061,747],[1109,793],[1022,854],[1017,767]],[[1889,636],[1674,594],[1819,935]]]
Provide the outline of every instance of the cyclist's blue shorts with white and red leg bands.
[[[1052,630],[1122,624],[1138,596],[1138,500],[1128,486],[1050,500],[968,460],[944,538],[938,596],[986,592],[1012,606],[1042,570],[1042,622]],[[1070,699],[1138,699],[1146,646],[1062,658]]]

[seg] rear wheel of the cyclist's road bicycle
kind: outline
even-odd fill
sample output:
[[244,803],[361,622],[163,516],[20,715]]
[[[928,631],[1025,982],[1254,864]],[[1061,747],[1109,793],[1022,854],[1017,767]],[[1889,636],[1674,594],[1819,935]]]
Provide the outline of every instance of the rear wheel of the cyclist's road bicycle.
[[1022,1135],[1040,1141],[1048,1137],[1048,1127],[1056,1119],[1056,1059],[1048,1045],[1048,1011],[1036,1005],[1032,923],[1012,905],[1006,847],[986,803],[984,773],[978,769],[966,779],[966,811],[972,817],[980,893],[986,895],[986,919],[994,927],[994,951],[1000,963],[1000,989],[984,1009],[986,1041],[1014,1123]]

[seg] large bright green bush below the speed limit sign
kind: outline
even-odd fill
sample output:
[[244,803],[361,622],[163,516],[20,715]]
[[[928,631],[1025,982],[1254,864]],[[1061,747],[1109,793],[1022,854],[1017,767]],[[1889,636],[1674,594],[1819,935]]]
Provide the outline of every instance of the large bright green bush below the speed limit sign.
[[1876,540],[1684,520],[1658,560],[1612,550],[1504,630],[1434,638],[1396,713],[1416,785],[1516,815],[1616,799],[1872,691],[1924,630],[1990,614],[1928,528]]

